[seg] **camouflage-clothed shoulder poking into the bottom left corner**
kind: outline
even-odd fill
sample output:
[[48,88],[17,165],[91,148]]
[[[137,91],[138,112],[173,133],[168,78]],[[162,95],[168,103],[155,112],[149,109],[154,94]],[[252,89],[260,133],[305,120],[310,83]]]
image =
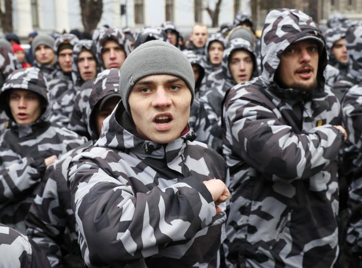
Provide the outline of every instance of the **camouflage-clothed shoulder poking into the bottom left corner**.
[[34,241],[3,224],[0,224],[0,260],[0,266],[6,268],[50,268]]

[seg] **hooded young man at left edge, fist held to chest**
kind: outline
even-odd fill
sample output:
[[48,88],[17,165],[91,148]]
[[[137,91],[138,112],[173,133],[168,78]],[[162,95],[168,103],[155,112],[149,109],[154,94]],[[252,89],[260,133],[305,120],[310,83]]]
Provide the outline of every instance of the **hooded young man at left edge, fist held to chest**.
[[25,233],[24,218],[46,167],[86,139],[49,122],[48,85],[38,68],[14,71],[0,100],[10,119],[0,136],[0,222]]

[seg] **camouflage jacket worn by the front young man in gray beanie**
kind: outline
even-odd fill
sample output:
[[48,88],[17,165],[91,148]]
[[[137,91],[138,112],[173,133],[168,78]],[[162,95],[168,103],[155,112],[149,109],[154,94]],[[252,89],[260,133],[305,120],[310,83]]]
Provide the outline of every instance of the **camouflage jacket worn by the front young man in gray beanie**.
[[72,161],[83,259],[89,267],[217,267],[226,214],[216,214],[202,181],[227,180],[225,162],[192,142],[193,131],[157,144],[135,136],[131,122],[118,104],[95,147]]

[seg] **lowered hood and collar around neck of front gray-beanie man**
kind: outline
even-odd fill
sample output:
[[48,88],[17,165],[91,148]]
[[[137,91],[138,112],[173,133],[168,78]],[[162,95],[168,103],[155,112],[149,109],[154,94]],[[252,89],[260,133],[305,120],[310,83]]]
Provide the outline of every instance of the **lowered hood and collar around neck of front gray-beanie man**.
[[[122,151],[132,150],[137,153],[137,157],[139,158],[146,158],[151,155],[155,158],[164,158],[165,147],[171,145],[175,147],[174,149],[179,150],[180,148],[176,148],[176,146],[180,146],[180,144],[183,144],[186,140],[193,141],[195,138],[194,131],[189,130],[185,135],[168,144],[144,140],[136,134],[131,116],[124,109],[122,102],[120,102],[113,110],[111,116],[103,121],[102,135],[95,146],[114,148]],[[174,155],[174,157],[177,156],[177,153],[181,152],[175,151],[176,155]]]

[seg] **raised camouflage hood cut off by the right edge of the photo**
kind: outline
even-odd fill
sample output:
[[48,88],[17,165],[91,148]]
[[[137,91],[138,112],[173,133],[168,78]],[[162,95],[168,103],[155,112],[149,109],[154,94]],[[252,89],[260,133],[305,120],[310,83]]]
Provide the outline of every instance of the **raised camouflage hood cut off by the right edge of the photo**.
[[362,26],[349,28],[346,33],[346,47],[349,62],[349,74],[359,82],[362,81]]

